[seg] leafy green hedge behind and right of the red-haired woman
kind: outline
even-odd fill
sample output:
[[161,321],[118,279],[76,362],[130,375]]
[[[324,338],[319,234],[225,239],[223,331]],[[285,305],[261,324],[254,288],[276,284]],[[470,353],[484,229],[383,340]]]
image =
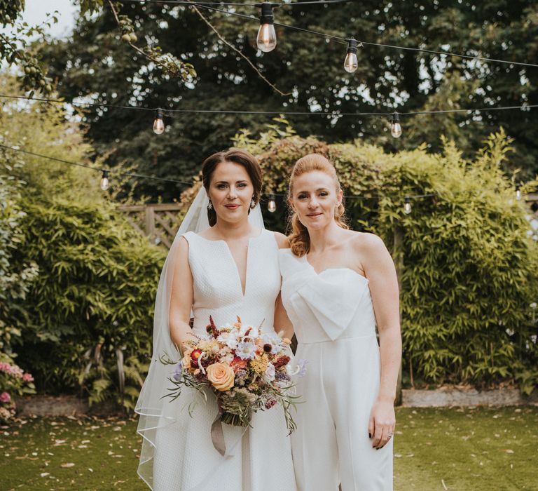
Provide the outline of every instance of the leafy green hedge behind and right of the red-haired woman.
[[[360,140],[325,144],[284,131],[284,138],[282,129],[259,138],[244,131],[235,144],[259,157],[266,193],[287,192],[291,168],[305,154],[322,153],[336,165],[344,194],[353,196],[345,203],[350,225],[380,235],[399,265],[403,363],[411,383],[506,381],[529,394],[538,382],[531,307],[538,247],[527,236],[528,211],[501,170],[511,151],[504,132],[464,160],[446,140],[439,154],[425,147],[385,154]],[[412,213],[403,213],[405,196],[420,194],[435,196],[412,200]],[[278,205],[265,218],[284,231],[285,199]]]

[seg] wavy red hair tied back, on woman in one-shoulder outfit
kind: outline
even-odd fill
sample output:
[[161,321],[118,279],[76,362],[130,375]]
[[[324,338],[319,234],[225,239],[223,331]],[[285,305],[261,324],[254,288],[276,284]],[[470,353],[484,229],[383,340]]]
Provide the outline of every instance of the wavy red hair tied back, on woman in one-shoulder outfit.
[[[336,192],[342,189],[340,187],[340,181],[338,181],[338,176],[336,175],[336,169],[333,164],[329,162],[323,155],[320,154],[310,154],[302,157],[296,161],[294,169],[291,171],[291,176],[289,178],[289,194],[288,199],[291,203],[291,199],[294,196],[294,180],[300,175],[314,172],[319,170],[320,172],[326,173],[333,178],[334,184],[336,187]],[[345,222],[345,207],[343,200],[340,203],[340,206],[334,210],[334,220],[339,227],[343,229],[349,229]],[[308,254],[310,250],[310,235],[308,235],[308,229],[301,223],[297,213],[292,211],[290,217],[291,223],[291,234],[289,236],[289,243],[291,244],[291,252],[296,256],[302,257],[305,254]]]

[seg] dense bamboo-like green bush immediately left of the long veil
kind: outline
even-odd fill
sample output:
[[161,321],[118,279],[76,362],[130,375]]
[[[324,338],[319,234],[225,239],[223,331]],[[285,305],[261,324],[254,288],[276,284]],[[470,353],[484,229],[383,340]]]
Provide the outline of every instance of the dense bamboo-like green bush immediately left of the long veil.
[[137,397],[151,354],[165,253],[109,206],[27,202],[20,250],[39,264],[19,354],[39,389],[82,389],[90,402]]

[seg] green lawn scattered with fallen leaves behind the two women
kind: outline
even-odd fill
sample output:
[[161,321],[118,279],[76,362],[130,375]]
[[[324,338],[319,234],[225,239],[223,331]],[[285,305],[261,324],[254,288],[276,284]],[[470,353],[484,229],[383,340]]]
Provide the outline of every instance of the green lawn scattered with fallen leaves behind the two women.
[[[538,489],[538,408],[399,408],[396,417],[395,491]],[[146,490],[135,430],[122,419],[3,426],[0,489]]]

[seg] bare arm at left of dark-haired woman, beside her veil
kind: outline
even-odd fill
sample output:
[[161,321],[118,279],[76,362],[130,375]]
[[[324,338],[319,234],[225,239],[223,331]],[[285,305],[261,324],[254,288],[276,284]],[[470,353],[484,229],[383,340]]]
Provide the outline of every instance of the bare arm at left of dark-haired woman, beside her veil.
[[188,264],[188,242],[181,238],[174,254],[174,277],[172,278],[172,297],[170,298],[170,337],[181,351],[183,343],[193,339],[191,308],[193,307],[193,274]]

